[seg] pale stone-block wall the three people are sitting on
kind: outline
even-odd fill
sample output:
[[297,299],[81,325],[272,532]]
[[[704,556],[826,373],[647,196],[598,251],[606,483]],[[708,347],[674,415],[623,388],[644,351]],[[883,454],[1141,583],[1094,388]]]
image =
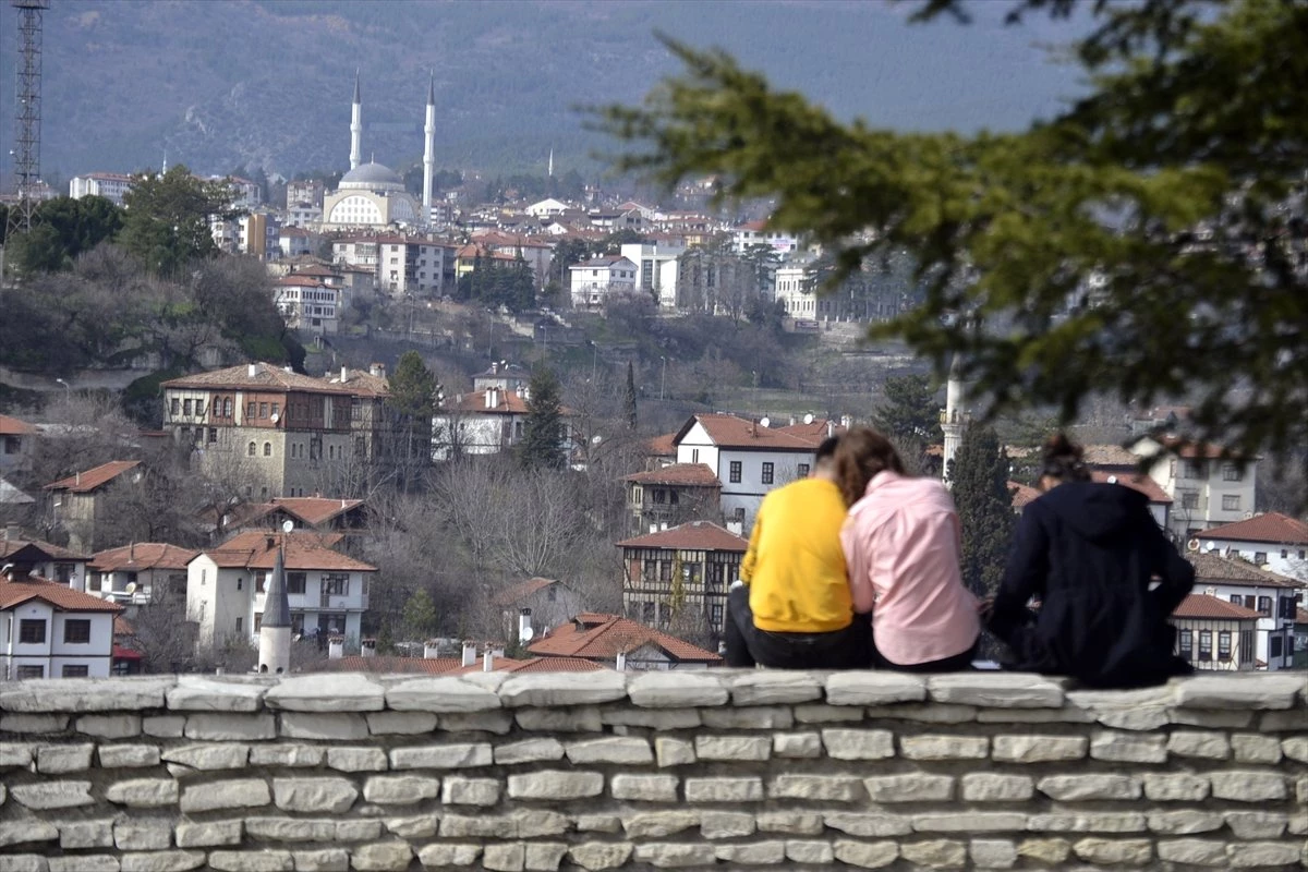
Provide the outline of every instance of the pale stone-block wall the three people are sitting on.
[[1298,869],[1308,677],[0,685],[0,872]]

